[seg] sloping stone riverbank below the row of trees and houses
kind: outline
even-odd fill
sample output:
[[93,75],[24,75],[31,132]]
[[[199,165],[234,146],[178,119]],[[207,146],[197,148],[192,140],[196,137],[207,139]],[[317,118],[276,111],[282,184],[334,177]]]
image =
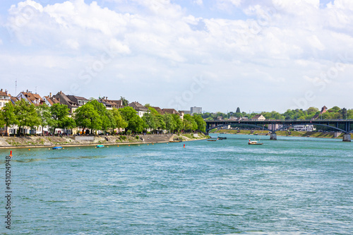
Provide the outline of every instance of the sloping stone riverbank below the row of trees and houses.
[[160,135],[107,135],[107,136],[23,136],[0,137],[0,149],[32,148],[55,146],[90,146],[90,145],[138,145],[148,143],[168,143],[170,141],[203,140],[205,135],[197,134],[160,134]]

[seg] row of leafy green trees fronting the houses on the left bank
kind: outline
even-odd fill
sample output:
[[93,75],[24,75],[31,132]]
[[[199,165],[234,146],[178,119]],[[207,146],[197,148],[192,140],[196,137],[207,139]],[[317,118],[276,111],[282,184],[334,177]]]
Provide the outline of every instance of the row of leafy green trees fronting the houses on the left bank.
[[[160,114],[154,108],[148,107],[141,118],[132,107],[121,109],[106,109],[104,104],[97,100],[90,100],[85,105],[78,107],[69,115],[69,109],[65,104],[53,104],[48,107],[42,104],[35,107],[25,100],[19,100],[15,104],[8,102],[0,112],[0,126],[18,126],[18,135],[21,128],[35,128],[48,126],[51,133],[56,129],[82,128],[83,133],[113,133],[115,128],[122,128],[125,133],[157,132],[167,130],[169,133],[181,131],[205,132],[205,121],[201,115],[191,116],[186,114],[181,119],[178,114]],[[44,131],[42,131],[43,134]]]

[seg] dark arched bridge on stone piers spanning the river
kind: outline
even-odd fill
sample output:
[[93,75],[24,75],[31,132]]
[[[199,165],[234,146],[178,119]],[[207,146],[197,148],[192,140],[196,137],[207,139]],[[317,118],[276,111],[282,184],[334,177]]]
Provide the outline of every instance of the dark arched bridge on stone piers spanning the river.
[[[294,126],[301,125],[313,125],[313,126],[325,126],[331,128],[335,131],[341,131],[345,133],[343,135],[343,141],[350,142],[351,135],[353,133],[353,119],[342,120],[342,119],[324,119],[324,120],[251,120],[251,119],[243,119],[243,120],[222,120],[222,121],[206,121],[206,133],[214,128],[220,128],[222,126],[249,126],[253,128],[261,128],[266,131],[270,131],[270,140],[277,140],[276,131],[281,131],[287,128],[292,128]],[[274,129],[276,124],[282,125],[283,127]],[[271,125],[272,128],[265,128],[265,125]]]

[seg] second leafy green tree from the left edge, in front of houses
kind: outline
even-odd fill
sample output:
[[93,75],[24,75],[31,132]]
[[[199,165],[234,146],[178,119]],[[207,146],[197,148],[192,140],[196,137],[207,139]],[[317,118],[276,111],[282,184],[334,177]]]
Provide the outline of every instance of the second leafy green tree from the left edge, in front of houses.
[[30,104],[23,99],[18,100],[14,113],[18,120],[18,135],[20,135],[21,127],[28,126],[34,128],[40,125],[40,119],[34,104]]

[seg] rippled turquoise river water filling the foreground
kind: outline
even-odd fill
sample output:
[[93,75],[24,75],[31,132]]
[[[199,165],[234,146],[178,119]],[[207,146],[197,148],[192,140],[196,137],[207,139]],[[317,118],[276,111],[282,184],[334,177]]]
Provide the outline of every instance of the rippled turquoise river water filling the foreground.
[[1,216],[0,234],[352,234],[353,143],[222,136],[14,149],[11,231]]

